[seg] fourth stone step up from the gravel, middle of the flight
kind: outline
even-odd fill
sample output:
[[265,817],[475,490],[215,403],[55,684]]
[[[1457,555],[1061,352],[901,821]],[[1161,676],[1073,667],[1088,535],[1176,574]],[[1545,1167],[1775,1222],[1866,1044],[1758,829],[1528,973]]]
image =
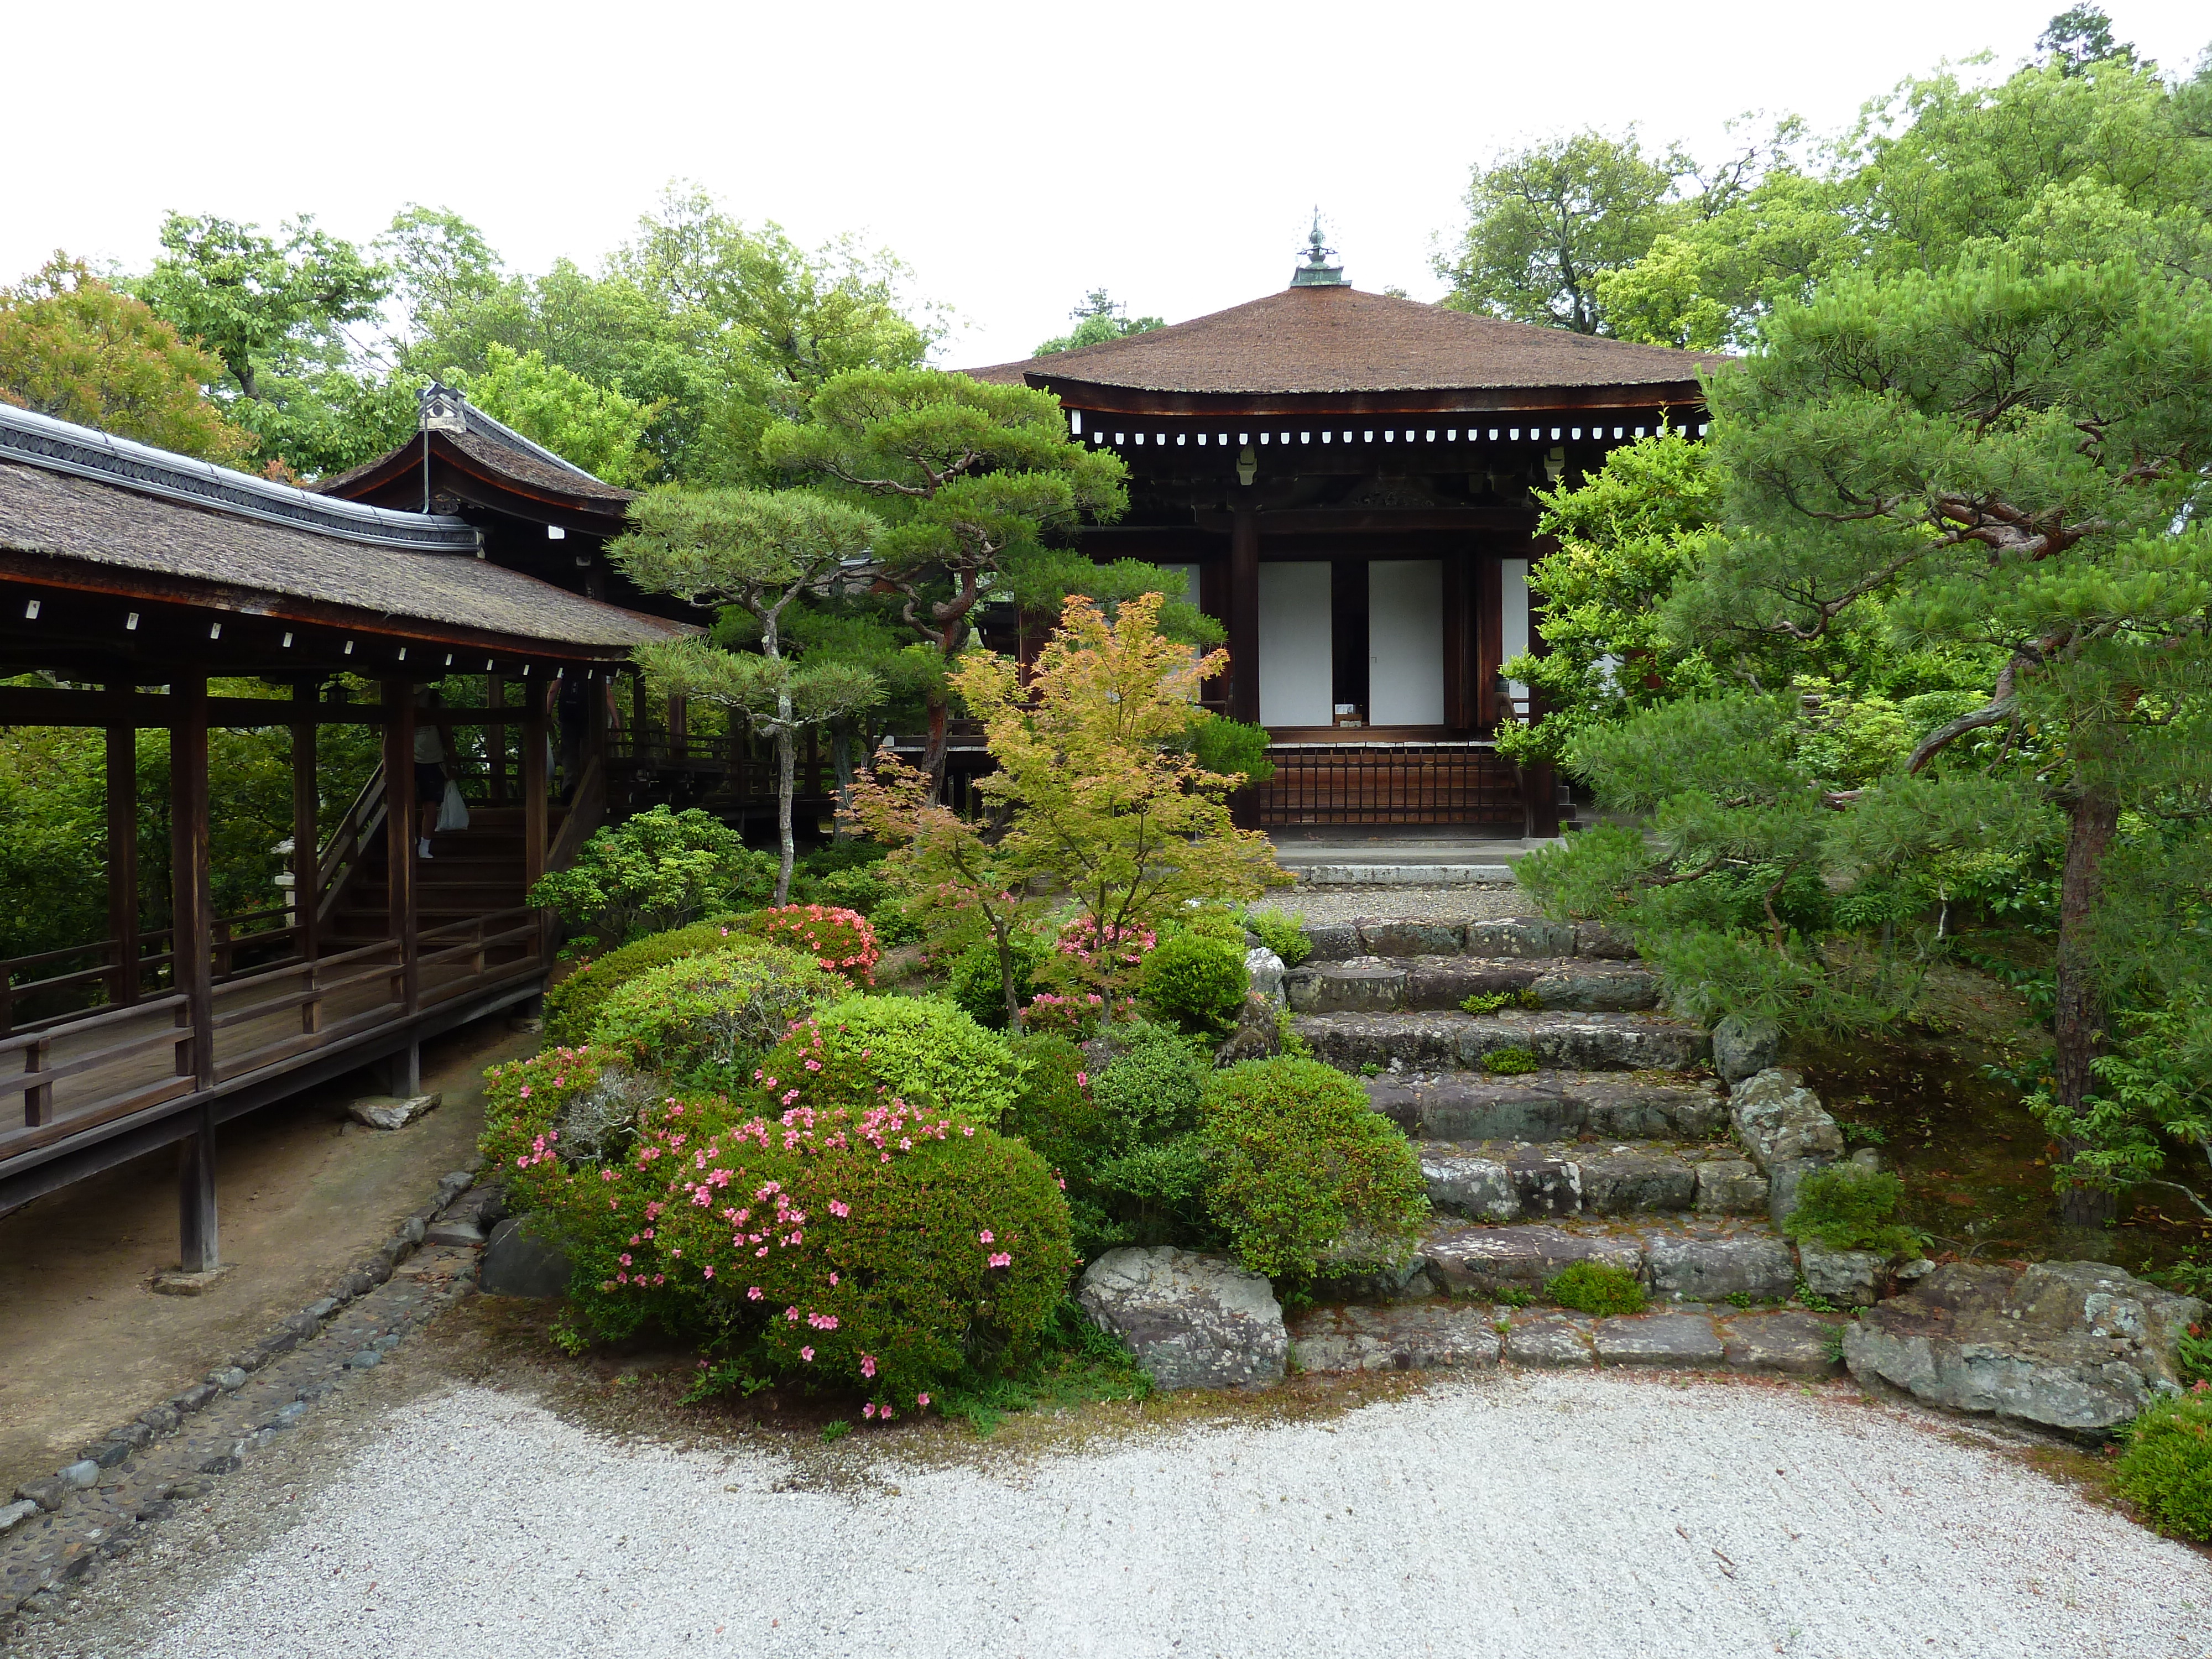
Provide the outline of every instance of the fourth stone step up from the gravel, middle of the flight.
[[1367,1079],[1367,1104],[1429,1141],[1710,1141],[1730,1121],[1710,1077],[1619,1071],[1396,1073]]

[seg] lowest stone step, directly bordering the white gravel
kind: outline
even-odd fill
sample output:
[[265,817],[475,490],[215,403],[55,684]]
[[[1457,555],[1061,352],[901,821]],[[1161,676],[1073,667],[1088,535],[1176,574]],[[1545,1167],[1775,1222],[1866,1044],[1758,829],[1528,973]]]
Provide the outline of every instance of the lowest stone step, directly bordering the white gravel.
[[[1486,1365],[1648,1367],[1832,1376],[1840,1314],[1668,1310],[1588,1318],[1471,1303],[1310,1307],[1290,1321],[1303,1371],[1442,1371]],[[1502,1329],[1500,1329],[1502,1327]]]

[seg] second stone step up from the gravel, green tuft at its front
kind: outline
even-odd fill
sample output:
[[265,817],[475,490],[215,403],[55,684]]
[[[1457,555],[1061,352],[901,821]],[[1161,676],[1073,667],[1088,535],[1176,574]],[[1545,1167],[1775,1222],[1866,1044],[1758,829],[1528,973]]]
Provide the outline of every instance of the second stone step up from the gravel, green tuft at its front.
[[1495,1298],[1540,1292],[1577,1261],[1599,1261],[1637,1274],[1655,1296],[1679,1301],[1783,1301],[1796,1290],[1790,1245],[1765,1230],[1650,1228],[1568,1230],[1544,1223],[1447,1225],[1420,1248],[1429,1276],[1453,1296]]

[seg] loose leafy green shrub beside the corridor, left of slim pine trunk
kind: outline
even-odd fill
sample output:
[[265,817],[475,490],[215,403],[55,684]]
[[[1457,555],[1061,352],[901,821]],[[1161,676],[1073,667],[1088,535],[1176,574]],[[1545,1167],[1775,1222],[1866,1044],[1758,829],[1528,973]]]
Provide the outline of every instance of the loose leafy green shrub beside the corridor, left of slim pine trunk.
[[768,885],[768,858],[721,818],[699,807],[648,807],[593,832],[575,865],[540,878],[529,902],[551,905],[591,929],[591,942],[611,947],[765,898]]

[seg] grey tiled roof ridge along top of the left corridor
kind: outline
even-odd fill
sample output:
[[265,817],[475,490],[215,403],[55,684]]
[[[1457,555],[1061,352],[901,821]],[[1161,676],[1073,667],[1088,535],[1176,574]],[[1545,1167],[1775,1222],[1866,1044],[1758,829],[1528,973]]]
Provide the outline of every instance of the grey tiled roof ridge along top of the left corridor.
[[319,535],[411,553],[476,555],[484,540],[473,524],[460,518],[396,513],[389,507],[363,507],[336,495],[316,495],[294,484],[279,484],[274,478],[254,478],[232,467],[217,467],[212,460],[115,438],[97,427],[80,427],[7,403],[0,403],[0,460],[95,478],[139,495],[159,495],[232,518],[257,518],[268,524],[290,524]]

